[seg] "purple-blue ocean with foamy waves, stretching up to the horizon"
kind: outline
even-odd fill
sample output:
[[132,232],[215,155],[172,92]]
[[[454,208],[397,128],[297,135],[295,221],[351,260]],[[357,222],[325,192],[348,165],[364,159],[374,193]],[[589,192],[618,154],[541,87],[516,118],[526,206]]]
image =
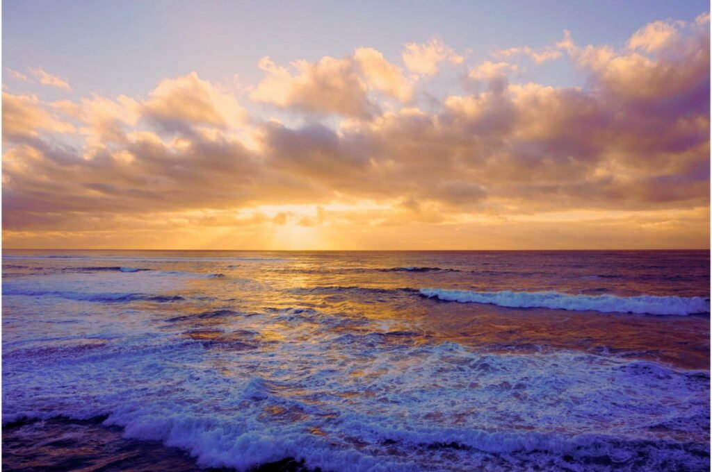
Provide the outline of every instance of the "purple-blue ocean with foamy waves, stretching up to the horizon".
[[5,250],[6,471],[708,471],[709,251]]

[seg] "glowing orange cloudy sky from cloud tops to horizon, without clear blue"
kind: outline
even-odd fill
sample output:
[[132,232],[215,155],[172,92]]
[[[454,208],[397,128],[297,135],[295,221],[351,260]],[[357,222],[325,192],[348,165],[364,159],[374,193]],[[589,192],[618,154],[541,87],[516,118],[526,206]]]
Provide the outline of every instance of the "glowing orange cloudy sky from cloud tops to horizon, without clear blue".
[[[435,36],[131,96],[6,68],[3,244],[706,248],[709,35],[703,13],[483,60]],[[532,79],[563,63],[579,85]]]

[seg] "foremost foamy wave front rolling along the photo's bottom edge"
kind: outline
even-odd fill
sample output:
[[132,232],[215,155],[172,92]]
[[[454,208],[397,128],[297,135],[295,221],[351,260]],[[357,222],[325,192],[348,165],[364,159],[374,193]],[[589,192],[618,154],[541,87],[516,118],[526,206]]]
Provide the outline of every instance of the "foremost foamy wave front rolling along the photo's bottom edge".
[[[650,439],[605,432],[465,429],[428,422],[408,428],[379,421],[379,414],[348,411],[340,414],[335,425],[304,422],[301,415],[305,405],[280,395],[282,389],[279,382],[263,377],[241,380],[230,394],[232,402],[243,408],[237,418],[201,414],[172,402],[134,400],[73,414],[6,414],[3,426],[12,430],[38,420],[55,420],[62,426],[120,427],[126,438],[159,441],[182,449],[194,456],[199,466],[239,471],[273,470],[268,467],[270,463],[287,458],[297,458],[303,467],[294,470],[300,471],[410,471],[424,461],[437,470],[706,470],[709,465],[708,446],[690,439]],[[256,415],[261,415],[260,421]],[[270,421],[290,418],[289,415],[300,419],[295,425],[289,422],[278,426]],[[339,439],[344,436],[366,447],[339,447],[343,444]]]

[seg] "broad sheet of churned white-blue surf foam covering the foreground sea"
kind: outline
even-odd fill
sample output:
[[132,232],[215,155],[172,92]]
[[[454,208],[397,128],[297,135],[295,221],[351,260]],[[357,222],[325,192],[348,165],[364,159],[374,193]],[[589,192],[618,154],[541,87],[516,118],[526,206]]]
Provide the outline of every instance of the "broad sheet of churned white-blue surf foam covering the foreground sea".
[[[265,321],[254,331],[188,331],[185,343],[168,336],[169,345],[152,339],[145,348],[115,343],[109,352],[61,359],[43,353],[41,362],[11,358],[4,365],[11,402],[4,402],[3,422],[7,428],[33,417],[94,419],[122,427],[127,438],[178,447],[200,466],[241,471],[286,457],[337,471],[411,471],[423,464],[706,470],[709,463],[708,371],[565,351],[481,354],[451,342],[397,343],[384,346],[383,356],[356,337],[335,350],[329,343],[286,342],[274,355],[273,344],[259,350],[261,331],[274,326],[272,318]],[[384,338],[370,342],[378,345],[418,336],[367,335]],[[212,364],[201,363],[204,348],[241,352],[225,363],[239,375],[206,368]],[[357,362],[335,363],[344,358]],[[586,382],[598,388],[581,388]],[[531,402],[540,409],[529,409]],[[532,414],[519,417],[522,411]],[[630,424],[609,421],[621,416]],[[684,439],[676,441],[676,434]]]

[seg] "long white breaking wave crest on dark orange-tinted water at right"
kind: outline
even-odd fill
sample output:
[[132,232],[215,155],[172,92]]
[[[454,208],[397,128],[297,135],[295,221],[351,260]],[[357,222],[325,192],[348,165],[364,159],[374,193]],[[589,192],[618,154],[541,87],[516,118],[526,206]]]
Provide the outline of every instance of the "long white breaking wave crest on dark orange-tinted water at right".
[[592,296],[562,294],[557,291],[487,292],[445,289],[420,289],[420,294],[442,301],[492,304],[508,308],[546,308],[680,316],[710,312],[710,300],[701,296]]

